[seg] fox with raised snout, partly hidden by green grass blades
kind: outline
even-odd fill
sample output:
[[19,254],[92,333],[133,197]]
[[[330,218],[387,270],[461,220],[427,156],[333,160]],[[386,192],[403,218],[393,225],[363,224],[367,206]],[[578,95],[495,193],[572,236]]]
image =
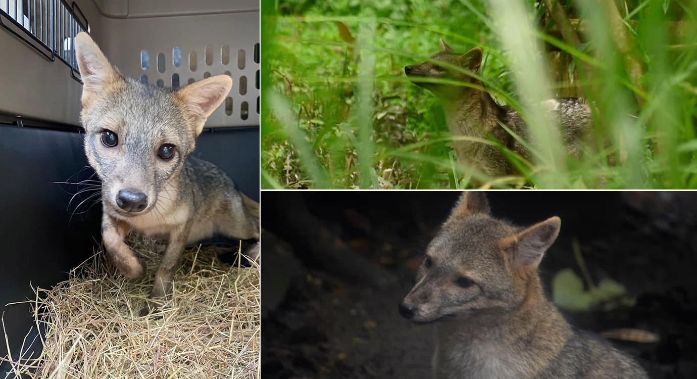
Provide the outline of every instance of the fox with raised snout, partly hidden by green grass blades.
[[[503,124],[523,140],[529,140],[528,126],[520,114],[511,107],[501,106],[493,101],[487,91],[483,90],[480,80],[459,70],[438,65],[445,62],[452,66],[465,68],[479,74],[482,64],[482,49],[475,47],[464,54],[454,52],[441,39],[441,52],[431,56],[430,61],[404,67],[404,73],[411,78],[443,78],[457,80],[468,86],[414,81],[420,87],[428,89],[441,100],[445,110],[445,119],[450,133],[454,137],[493,139],[503,147],[529,159],[530,151],[516,140]],[[582,98],[556,98],[543,103],[551,114],[551,119],[560,125],[560,136],[565,144],[567,154],[579,156],[585,135],[591,128],[591,110]],[[501,177],[516,173],[514,165],[496,146],[482,142],[456,140],[453,142],[458,161],[475,168],[489,177]]]

